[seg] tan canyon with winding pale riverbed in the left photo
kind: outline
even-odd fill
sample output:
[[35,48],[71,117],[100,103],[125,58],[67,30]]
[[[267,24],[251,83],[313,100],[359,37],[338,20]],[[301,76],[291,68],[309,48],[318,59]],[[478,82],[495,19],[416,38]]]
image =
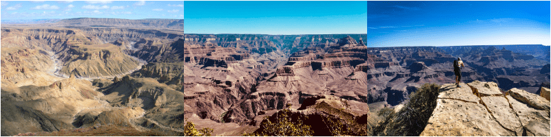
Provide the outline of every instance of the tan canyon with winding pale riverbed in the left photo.
[[183,20],[1,27],[2,136],[110,126],[183,133]]

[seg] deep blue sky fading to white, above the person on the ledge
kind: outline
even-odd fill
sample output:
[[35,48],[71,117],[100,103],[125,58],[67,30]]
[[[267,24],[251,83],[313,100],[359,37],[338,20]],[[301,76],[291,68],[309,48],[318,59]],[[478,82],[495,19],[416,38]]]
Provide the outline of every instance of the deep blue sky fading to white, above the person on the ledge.
[[550,1],[369,1],[370,47],[550,45]]

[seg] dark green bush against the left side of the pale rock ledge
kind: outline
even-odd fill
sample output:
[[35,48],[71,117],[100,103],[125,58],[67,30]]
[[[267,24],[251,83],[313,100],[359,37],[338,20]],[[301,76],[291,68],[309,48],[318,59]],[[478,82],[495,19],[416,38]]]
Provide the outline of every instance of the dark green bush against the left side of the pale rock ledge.
[[440,86],[423,84],[413,92],[404,108],[391,112],[373,127],[376,136],[419,136],[425,129],[428,119],[436,107]]

